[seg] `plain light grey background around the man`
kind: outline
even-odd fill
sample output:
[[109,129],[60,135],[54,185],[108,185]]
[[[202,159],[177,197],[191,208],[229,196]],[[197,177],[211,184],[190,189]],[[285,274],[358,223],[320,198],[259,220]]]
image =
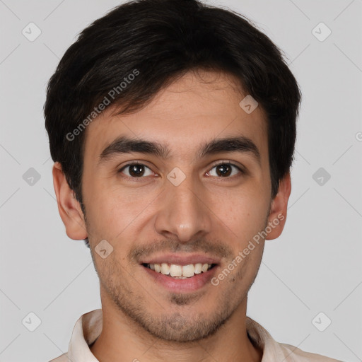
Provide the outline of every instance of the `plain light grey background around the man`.
[[[58,214],[42,106],[47,80],[76,35],[117,4],[0,0],[2,362],[59,356],[78,317],[100,308],[90,252],[67,238]],[[247,315],[277,341],[362,361],[362,1],[209,4],[255,21],[284,50],[303,93],[286,228],[267,241]],[[42,32],[33,42],[22,34],[30,22]],[[324,41],[313,34],[320,22],[332,30]],[[323,25],[315,31],[327,34]],[[33,185],[29,168],[40,175]],[[319,168],[331,175],[322,185],[319,174],[313,179]],[[41,320],[34,332],[22,323],[35,327],[30,312]],[[315,325],[325,327],[327,318],[320,332]]]

